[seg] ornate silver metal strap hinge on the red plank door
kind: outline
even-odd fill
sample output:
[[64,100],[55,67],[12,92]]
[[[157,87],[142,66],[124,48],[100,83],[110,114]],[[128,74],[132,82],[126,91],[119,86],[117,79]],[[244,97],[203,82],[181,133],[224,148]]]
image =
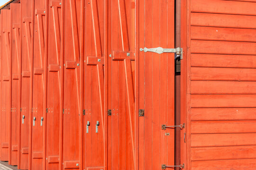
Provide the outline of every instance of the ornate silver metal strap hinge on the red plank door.
[[171,53],[176,53],[177,57],[180,57],[181,59],[183,59],[183,50],[181,47],[175,48],[175,49],[164,49],[162,47],[157,47],[157,48],[140,48],[140,51],[144,51],[144,52],[155,52],[158,54],[162,54],[164,52],[171,52]]

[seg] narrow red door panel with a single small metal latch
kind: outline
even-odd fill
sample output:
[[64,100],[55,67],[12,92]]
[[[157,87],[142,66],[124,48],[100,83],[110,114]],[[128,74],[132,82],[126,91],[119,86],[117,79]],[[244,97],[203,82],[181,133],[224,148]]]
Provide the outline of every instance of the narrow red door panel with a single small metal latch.
[[29,112],[30,99],[31,99],[31,72],[32,72],[32,61],[31,61],[31,42],[32,42],[32,1],[22,0],[21,1],[21,77],[20,77],[20,113],[19,122],[20,129],[18,136],[18,169],[28,169],[28,134],[29,134]]

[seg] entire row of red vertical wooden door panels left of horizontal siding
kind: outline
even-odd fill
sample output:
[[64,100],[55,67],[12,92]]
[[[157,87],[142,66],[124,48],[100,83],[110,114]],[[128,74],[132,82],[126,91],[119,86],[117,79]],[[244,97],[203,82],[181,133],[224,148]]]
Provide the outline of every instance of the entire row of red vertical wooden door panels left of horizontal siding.
[[21,170],[174,165],[174,0],[2,9],[0,160]]

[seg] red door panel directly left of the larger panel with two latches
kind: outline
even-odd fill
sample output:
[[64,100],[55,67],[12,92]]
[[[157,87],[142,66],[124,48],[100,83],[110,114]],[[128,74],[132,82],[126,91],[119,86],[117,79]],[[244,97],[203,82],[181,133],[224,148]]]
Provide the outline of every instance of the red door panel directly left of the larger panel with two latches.
[[[82,0],[64,1],[63,169],[80,168]],[[82,60],[83,62],[83,60]],[[81,160],[82,161],[82,160]],[[81,167],[82,168],[82,167]]]

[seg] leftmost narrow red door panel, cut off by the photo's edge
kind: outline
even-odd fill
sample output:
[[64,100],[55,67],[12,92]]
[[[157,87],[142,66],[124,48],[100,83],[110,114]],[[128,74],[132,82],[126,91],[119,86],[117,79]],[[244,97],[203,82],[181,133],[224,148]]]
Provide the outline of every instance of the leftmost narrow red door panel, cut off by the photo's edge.
[[1,161],[9,160],[10,116],[10,10],[2,9],[2,58],[1,58]]

